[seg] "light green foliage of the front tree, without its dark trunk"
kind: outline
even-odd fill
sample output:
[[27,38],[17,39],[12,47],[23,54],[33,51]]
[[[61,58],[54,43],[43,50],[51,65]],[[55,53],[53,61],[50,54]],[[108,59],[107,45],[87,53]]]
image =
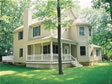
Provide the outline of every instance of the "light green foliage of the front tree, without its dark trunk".
[[[56,0],[38,0],[36,1],[34,17],[38,17],[43,20],[45,29],[56,29],[57,28],[57,5]],[[67,19],[67,12],[74,7],[79,7],[78,0],[61,0],[61,22],[62,28],[68,28],[72,24],[73,19]],[[76,5],[77,4],[77,5]]]

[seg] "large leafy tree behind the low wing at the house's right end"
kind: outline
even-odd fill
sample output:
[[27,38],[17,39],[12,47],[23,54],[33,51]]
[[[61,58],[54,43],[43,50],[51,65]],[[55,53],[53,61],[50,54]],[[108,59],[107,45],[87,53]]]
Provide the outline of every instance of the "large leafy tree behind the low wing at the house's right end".
[[103,48],[103,58],[112,58],[112,25],[110,15],[104,9],[83,9],[79,16],[86,18],[92,26],[93,36],[90,43]]

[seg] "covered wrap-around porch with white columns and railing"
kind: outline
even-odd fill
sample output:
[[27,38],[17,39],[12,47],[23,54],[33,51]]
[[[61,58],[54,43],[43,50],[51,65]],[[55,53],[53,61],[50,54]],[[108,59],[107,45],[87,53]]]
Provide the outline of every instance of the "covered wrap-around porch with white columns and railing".
[[[76,44],[76,43],[75,43]],[[71,46],[75,46],[71,41],[62,41],[61,54],[62,61],[71,61]],[[26,62],[57,62],[58,44],[57,40],[47,40],[44,42],[28,44]]]

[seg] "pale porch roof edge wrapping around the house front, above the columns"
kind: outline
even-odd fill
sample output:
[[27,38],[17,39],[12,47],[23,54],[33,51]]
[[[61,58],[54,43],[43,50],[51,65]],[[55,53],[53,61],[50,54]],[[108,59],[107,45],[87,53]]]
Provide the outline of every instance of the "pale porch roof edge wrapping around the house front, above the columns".
[[[37,38],[37,39],[33,39],[31,41],[28,41],[27,42],[27,45],[45,43],[45,42],[50,42],[50,41],[58,42],[57,37],[54,37],[54,36],[46,36],[46,37],[40,37],[40,38]],[[62,38],[61,39],[61,42],[62,43],[68,43],[68,44],[77,45],[77,42],[76,41],[70,40],[70,39],[64,39],[64,38]]]

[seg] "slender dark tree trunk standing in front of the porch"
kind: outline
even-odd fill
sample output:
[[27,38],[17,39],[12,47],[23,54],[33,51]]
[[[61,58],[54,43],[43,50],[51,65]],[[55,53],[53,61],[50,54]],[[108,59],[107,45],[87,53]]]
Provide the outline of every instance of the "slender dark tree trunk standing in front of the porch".
[[61,10],[60,10],[60,0],[57,0],[57,15],[58,15],[58,66],[59,74],[63,74],[62,71],[62,60],[61,60]]

